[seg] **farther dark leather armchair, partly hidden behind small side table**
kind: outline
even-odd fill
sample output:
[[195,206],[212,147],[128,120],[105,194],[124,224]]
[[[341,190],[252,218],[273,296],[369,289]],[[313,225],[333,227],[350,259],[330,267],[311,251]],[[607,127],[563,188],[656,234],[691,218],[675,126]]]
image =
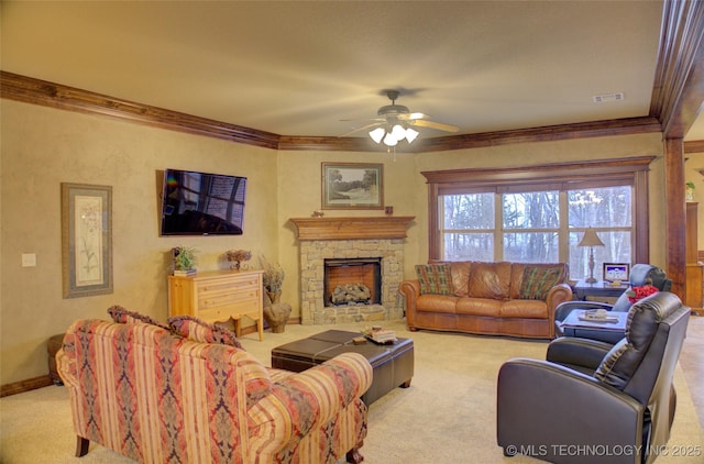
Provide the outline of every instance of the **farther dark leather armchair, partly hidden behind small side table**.
[[651,264],[634,264],[630,269],[629,281],[630,286],[618,297],[614,305],[600,301],[565,301],[558,305],[554,309],[554,336],[558,338],[564,334],[562,321],[574,309],[606,309],[607,311],[626,312],[630,309],[627,294],[632,287],[650,284],[660,291],[670,291],[672,287],[672,280],[667,277],[664,270]]

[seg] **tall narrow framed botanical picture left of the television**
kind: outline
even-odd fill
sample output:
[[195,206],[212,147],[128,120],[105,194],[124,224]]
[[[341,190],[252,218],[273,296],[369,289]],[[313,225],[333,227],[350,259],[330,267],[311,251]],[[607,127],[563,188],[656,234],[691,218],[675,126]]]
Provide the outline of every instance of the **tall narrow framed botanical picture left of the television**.
[[112,187],[62,183],[64,298],[112,292]]

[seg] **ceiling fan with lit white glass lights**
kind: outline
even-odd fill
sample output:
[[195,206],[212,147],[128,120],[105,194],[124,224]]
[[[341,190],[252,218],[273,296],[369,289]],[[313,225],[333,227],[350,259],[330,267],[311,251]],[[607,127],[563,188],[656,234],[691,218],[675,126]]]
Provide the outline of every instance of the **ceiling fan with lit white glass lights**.
[[444,124],[442,122],[430,121],[428,114],[411,113],[408,107],[396,104],[399,96],[398,90],[384,90],[392,104],[386,104],[376,111],[378,118],[363,128],[355,129],[342,134],[341,136],[351,135],[360,131],[370,131],[369,135],[376,143],[384,142],[387,146],[395,146],[402,140],[411,143],[418,136],[419,132],[414,126],[436,129],[444,132],[457,132],[457,125]]

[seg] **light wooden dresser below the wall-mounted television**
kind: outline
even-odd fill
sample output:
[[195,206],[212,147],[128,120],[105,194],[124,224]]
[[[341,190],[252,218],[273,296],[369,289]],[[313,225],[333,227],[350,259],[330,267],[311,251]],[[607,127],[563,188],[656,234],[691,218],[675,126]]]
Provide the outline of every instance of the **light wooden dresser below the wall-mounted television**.
[[256,322],[263,333],[262,270],[210,270],[195,276],[168,276],[168,316],[195,316],[208,322],[232,318],[240,336],[241,319]]

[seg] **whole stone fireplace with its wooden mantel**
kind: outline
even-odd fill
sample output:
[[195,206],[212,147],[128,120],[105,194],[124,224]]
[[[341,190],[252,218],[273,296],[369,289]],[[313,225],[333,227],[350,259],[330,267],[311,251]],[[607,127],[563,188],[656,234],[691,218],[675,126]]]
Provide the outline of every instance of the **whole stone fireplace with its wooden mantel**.
[[[404,239],[413,219],[293,218],[299,241],[300,322],[399,319],[403,316],[398,285],[404,278]],[[373,280],[375,267],[378,283]],[[326,288],[326,281],[332,288]],[[345,284],[363,284],[374,295],[369,302],[332,305],[330,292]]]

